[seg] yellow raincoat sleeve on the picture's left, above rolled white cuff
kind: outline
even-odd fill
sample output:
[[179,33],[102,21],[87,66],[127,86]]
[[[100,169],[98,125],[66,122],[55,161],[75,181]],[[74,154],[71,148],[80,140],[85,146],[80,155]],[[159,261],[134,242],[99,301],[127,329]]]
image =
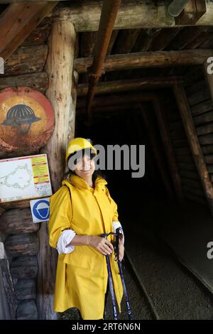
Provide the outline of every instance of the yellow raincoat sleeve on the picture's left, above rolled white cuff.
[[72,203],[70,191],[62,186],[50,197],[49,244],[56,248],[63,230],[70,230],[72,221]]

